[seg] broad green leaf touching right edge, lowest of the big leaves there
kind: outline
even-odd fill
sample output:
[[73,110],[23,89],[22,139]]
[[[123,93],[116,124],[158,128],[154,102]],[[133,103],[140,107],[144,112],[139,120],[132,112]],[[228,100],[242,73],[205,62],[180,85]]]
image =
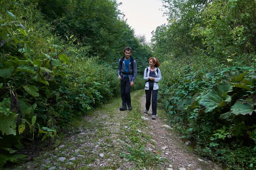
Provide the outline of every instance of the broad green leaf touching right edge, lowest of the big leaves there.
[[254,110],[254,105],[253,105],[252,99],[247,100],[246,103],[236,102],[236,104],[230,108],[230,112],[235,115],[239,115],[239,114],[251,115],[253,113],[253,111],[256,111],[256,110]]

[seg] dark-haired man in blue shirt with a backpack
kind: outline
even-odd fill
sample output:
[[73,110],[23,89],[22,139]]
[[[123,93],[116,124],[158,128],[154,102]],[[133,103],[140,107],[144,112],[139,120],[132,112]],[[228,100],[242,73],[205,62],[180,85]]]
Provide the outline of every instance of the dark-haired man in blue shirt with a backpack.
[[[134,80],[137,77],[137,64],[133,57],[131,57],[132,49],[130,47],[125,47],[124,53],[125,57],[119,59],[117,74],[118,79],[121,80],[121,98],[122,98],[122,108],[120,111],[128,110],[131,111],[131,86],[134,85]],[[126,106],[127,105],[127,106]]]

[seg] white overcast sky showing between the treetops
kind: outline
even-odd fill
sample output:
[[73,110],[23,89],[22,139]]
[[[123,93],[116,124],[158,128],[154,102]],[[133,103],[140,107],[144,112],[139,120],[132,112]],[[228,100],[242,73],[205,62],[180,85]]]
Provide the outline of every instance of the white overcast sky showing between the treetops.
[[147,42],[151,40],[151,32],[157,26],[167,23],[167,17],[163,17],[162,2],[160,0],[116,0],[122,2],[119,10],[125,14],[125,19],[136,35],[144,35]]

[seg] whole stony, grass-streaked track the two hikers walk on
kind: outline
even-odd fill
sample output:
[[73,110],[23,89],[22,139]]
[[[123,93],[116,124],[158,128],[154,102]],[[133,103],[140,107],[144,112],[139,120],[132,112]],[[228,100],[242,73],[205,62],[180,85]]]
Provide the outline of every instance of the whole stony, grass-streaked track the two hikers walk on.
[[54,149],[6,170],[221,170],[187,150],[189,142],[172,130],[163,111],[158,109],[156,120],[144,114],[142,95],[132,94],[132,111],[119,111],[121,99],[102,105],[73,122]]

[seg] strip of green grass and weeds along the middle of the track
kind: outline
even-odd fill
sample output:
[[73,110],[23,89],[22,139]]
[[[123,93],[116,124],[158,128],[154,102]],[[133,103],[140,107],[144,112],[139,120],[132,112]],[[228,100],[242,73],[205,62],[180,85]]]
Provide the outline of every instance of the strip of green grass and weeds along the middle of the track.
[[[121,153],[120,156],[132,161],[140,169],[148,169],[148,167],[157,168],[157,164],[163,164],[166,159],[160,159],[160,156],[150,152],[145,149],[145,144],[150,140],[150,136],[145,135],[141,130],[146,128],[144,120],[141,118],[140,111],[140,96],[144,91],[135,94],[133,97],[133,110],[128,112],[128,116],[125,118],[126,121],[122,122],[128,123],[126,126],[129,128],[124,128],[125,134],[128,136],[128,152]],[[128,130],[127,130],[128,129]],[[127,139],[124,139],[127,141]]]

